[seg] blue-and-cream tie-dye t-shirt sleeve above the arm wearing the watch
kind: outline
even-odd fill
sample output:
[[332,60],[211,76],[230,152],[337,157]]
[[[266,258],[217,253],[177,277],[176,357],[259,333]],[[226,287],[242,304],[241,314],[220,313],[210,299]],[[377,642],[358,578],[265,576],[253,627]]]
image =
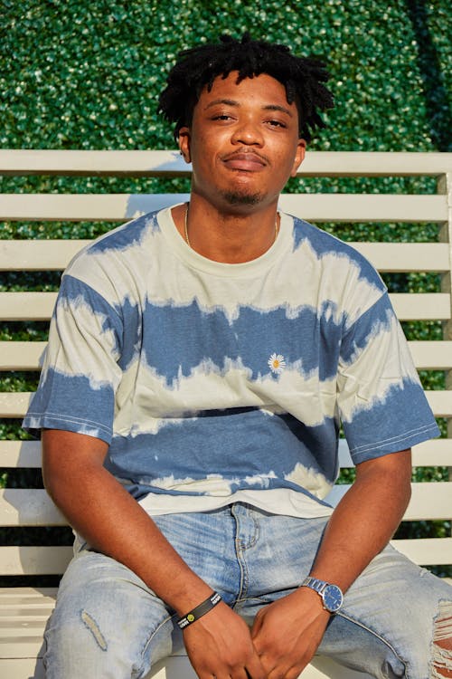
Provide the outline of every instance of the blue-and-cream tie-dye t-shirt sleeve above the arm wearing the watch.
[[387,292],[345,328],[337,388],[355,464],[439,434]]

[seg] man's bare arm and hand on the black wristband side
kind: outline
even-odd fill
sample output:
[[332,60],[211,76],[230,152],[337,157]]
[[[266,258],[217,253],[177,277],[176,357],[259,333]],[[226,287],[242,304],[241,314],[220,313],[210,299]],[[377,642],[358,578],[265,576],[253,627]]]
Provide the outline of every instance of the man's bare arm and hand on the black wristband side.
[[[42,472],[52,500],[96,550],[124,563],[179,616],[212,594],[177,554],[155,522],[103,466],[108,445],[59,430],[42,432]],[[263,679],[248,626],[221,603],[184,630],[193,667],[212,674]]]

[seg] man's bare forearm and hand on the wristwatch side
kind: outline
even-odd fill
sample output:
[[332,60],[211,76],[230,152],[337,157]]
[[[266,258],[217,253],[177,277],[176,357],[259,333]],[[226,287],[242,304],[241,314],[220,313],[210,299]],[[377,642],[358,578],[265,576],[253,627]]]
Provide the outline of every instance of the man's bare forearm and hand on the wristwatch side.
[[[344,591],[391,540],[410,501],[410,450],[356,466],[356,481],[335,508],[310,575]],[[252,637],[270,679],[295,679],[322,640],[330,613],[312,589],[298,588],[263,608]]]

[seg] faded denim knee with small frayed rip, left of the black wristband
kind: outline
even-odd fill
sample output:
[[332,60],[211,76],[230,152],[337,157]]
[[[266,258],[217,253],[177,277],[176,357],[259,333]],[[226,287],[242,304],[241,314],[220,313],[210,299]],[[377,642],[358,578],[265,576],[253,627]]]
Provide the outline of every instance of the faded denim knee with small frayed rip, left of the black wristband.
[[171,611],[141,579],[83,550],[61,580],[46,628],[46,677],[144,676],[171,653],[173,630]]

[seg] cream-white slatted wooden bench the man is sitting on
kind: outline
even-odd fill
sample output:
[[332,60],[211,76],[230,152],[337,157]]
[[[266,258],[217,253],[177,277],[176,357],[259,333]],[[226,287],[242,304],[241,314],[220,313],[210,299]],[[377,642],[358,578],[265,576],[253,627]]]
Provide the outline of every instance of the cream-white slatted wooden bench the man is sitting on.
[[[28,151],[0,150],[1,175],[177,177],[187,166],[176,151]],[[447,174],[449,173],[449,174]],[[300,167],[304,177],[437,177],[436,195],[298,194],[281,198],[287,212],[317,224],[322,222],[418,223],[438,225],[432,243],[359,243],[356,247],[381,272],[435,272],[441,277],[437,292],[392,294],[400,320],[439,320],[444,339],[410,342],[416,365],[422,370],[446,371],[446,388],[427,393],[436,416],[447,418],[447,438],[418,445],[414,464],[452,468],[452,154],[439,153],[308,153]],[[108,221],[121,223],[157,207],[184,200],[182,195],[67,195],[4,194],[0,220]],[[0,227],[1,228],[1,227]],[[4,227],[5,228],[5,227]],[[398,232],[394,230],[397,240]],[[0,240],[0,270],[60,271],[85,241]],[[54,292],[0,292],[0,319],[49,320]],[[37,371],[44,349],[41,341],[1,341],[0,370]],[[21,418],[28,393],[0,393],[0,417]],[[343,466],[351,466],[346,445]],[[40,445],[32,441],[0,441],[0,467],[37,468]],[[450,470],[449,470],[450,471]],[[452,477],[451,477],[452,478]],[[338,485],[337,500],[347,486]],[[452,517],[452,481],[413,483],[407,521],[444,521]],[[0,527],[62,526],[65,520],[45,491],[5,488],[0,496]],[[2,528],[0,528],[0,532]],[[452,537],[396,540],[397,547],[424,565],[452,564]],[[0,545],[0,577],[61,574],[71,548],[28,544]],[[42,677],[42,629],[49,616],[52,588],[0,589],[0,675],[3,679]],[[175,655],[152,673],[158,679],[193,676],[184,655]],[[325,660],[306,668],[306,679],[361,677]],[[63,678],[61,678],[63,679]]]

